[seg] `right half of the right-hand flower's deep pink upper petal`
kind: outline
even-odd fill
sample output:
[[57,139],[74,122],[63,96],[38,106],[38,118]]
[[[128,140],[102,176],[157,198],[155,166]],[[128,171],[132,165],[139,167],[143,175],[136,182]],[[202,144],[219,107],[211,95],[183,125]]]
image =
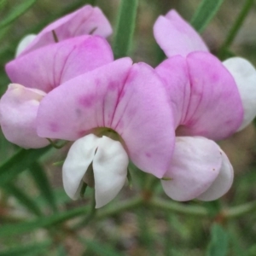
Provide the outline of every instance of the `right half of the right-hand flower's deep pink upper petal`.
[[212,140],[230,137],[241,125],[243,108],[235,80],[220,61],[204,52],[187,57],[191,95],[179,136]]

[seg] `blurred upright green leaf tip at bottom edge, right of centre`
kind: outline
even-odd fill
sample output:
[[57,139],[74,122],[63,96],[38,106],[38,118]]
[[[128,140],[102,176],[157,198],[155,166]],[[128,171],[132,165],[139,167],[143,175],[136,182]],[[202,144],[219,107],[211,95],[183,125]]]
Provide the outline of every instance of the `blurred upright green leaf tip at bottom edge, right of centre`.
[[227,256],[228,248],[228,234],[219,224],[213,224],[211,230],[211,241],[207,247],[207,256]]

